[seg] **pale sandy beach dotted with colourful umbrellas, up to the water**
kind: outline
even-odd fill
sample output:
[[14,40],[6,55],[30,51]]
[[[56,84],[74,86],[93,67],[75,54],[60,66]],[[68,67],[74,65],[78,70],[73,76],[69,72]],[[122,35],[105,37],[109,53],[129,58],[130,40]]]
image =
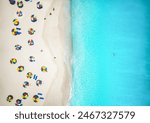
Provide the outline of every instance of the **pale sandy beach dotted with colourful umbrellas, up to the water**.
[[[22,2],[23,7],[19,8],[17,0],[14,5],[9,0],[0,1],[0,105],[68,105],[72,52],[70,0]],[[37,2],[42,8],[37,8]],[[22,16],[17,11],[22,11]],[[31,21],[32,15],[36,22]],[[18,25],[14,25],[14,19],[19,21]],[[18,30],[21,34],[13,35],[14,28],[21,29]],[[35,30],[31,35],[30,28]],[[28,42],[31,40],[32,45]]]

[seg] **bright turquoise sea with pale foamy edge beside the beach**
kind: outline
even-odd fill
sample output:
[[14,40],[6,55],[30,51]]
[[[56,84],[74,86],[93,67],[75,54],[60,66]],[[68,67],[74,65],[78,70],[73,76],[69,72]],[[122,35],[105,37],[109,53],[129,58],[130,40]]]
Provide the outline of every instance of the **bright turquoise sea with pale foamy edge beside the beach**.
[[71,105],[150,105],[148,1],[71,1]]

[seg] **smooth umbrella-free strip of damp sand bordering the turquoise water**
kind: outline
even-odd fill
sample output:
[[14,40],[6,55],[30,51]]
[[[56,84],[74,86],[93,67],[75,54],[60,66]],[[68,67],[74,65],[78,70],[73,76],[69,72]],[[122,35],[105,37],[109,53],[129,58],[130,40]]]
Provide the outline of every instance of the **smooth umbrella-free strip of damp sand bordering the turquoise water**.
[[[49,8],[50,10],[52,10],[53,6],[60,7],[59,12],[58,12],[59,16],[58,16],[58,18],[56,17],[57,24],[56,24],[56,26],[54,26],[55,24],[49,24],[49,23],[51,23],[51,21],[48,19],[45,24],[45,26],[46,25],[52,26],[51,28],[49,28],[49,30],[48,29],[45,30],[45,32],[47,32],[45,35],[48,35],[48,33],[51,32],[51,37],[49,37],[48,39],[50,40],[50,38],[52,38],[52,37],[53,38],[57,37],[55,41],[51,40],[49,42],[47,41],[46,43],[48,44],[49,49],[51,49],[52,55],[54,57],[56,57],[55,63],[57,64],[58,71],[56,73],[57,77],[53,82],[53,87],[51,86],[47,93],[47,95],[49,95],[47,100],[53,100],[53,102],[46,101],[44,103],[44,105],[68,105],[70,96],[71,96],[70,90],[71,90],[71,80],[72,80],[72,75],[71,75],[71,55],[72,55],[71,45],[72,45],[72,43],[71,43],[70,16],[68,16],[70,14],[70,4],[69,3],[70,3],[69,0],[65,0],[65,1],[61,1],[61,2],[53,1]],[[67,8],[67,10],[65,10],[66,8]],[[48,12],[50,10],[48,10]],[[62,12],[64,12],[64,13],[62,14]],[[68,17],[68,21],[66,19],[66,16]],[[70,26],[68,25],[68,23],[70,23],[69,24]],[[66,29],[66,27],[67,27],[67,29]],[[45,40],[46,40],[46,38],[45,38]],[[62,85],[62,86],[58,86],[57,84]],[[57,87],[59,88],[58,90],[62,90],[62,91],[57,91],[57,89],[56,89]],[[62,102],[57,101],[57,100],[59,100],[58,97],[57,98],[54,97],[52,99],[51,95],[53,95],[54,92],[59,95],[59,98],[62,98]]]

